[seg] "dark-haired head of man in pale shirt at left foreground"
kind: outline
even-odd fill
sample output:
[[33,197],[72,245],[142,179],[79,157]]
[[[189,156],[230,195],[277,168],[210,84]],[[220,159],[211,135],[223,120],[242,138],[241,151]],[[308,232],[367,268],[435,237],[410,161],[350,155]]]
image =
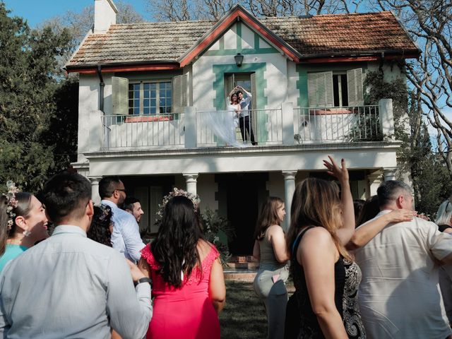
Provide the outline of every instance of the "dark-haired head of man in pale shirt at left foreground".
[[42,199],[49,219],[57,225],[64,218],[83,218],[91,199],[91,184],[80,174],[62,172],[44,184]]

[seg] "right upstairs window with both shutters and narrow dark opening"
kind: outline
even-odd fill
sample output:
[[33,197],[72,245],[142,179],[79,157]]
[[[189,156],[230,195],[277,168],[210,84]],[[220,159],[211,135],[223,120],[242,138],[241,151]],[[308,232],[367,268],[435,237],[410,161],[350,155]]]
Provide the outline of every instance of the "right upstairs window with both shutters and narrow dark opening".
[[308,99],[309,107],[363,105],[362,69],[308,73]]

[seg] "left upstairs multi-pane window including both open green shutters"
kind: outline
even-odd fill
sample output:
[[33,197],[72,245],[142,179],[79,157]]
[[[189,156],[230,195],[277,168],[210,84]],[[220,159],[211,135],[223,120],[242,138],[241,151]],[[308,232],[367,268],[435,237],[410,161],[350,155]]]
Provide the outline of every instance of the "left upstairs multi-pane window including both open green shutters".
[[182,112],[187,105],[187,76],[172,81],[129,83],[112,77],[112,112],[121,115],[151,115]]

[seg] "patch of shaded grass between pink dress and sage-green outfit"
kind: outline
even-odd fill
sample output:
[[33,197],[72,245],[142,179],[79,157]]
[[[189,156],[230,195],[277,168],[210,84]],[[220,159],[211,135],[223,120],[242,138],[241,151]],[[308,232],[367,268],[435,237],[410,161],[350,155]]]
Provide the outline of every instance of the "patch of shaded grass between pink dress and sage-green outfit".
[[222,339],[260,339],[267,336],[267,316],[253,283],[226,280],[226,304],[220,313]]

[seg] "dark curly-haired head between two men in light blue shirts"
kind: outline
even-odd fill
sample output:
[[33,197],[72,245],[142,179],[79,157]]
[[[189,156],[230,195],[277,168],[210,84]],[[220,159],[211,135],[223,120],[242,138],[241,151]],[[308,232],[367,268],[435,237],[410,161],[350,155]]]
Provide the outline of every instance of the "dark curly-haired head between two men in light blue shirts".
[[112,247],[112,208],[106,205],[94,206],[94,215],[91,225],[86,233],[89,239],[94,240],[105,246]]

